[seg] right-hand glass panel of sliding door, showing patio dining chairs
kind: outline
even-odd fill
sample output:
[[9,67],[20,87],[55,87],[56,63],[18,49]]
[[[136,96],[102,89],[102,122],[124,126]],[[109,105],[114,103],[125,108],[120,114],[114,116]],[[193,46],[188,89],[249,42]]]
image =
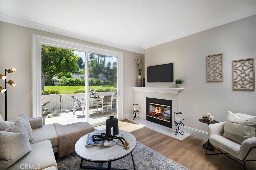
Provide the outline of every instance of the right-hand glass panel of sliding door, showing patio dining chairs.
[[118,58],[89,53],[89,123],[118,118]]

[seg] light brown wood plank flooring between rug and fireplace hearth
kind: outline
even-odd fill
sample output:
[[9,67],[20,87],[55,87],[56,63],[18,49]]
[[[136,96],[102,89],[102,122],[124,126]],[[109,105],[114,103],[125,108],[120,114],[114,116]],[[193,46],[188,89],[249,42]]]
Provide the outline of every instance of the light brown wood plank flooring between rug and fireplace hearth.
[[[202,146],[206,141],[193,136],[180,142],[151,129],[134,124],[128,120],[119,121],[119,129],[132,133],[138,142],[191,170],[244,169],[243,166],[223,154],[206,155],[206,149]],[[218,151],[210,152],[217,153]],[[246,169],[255,170],[256,161],[246,162]]]

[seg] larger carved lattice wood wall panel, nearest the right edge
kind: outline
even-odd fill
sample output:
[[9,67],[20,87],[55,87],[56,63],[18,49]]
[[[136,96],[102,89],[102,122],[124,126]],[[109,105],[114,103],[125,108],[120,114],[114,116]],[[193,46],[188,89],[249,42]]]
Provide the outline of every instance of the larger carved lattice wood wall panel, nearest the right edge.
[[254,58],[233,60],[233,89],[255,90]]

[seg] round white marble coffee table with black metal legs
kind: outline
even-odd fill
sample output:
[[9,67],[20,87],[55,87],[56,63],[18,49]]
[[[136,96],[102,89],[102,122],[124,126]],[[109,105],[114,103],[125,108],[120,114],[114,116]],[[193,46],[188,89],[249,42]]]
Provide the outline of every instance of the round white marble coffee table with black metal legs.
[[[106,130],[105,129],[98,130],[91,133],[106,133]],[[88,134],[80,138],[75,145],[75,151],[77,155],[82,159],[80,168],[109,169],[109,170],[115,169],[115,168],[111,168],[112,161],[122,159],[127,155],[131,154],[133,166],[134,166],[134,169],[136,170],[133,155],[132,155],[132,151],[135,149],[136,143],[137,143],[136,138],[131,133],[124,130],[119,130],[119,134],[123,134],[123,138],[129,142],[128,150],[124,148],[124,145],[122,144],[121,141],[119,141],[117,144],[111,147],[105,147],[104,145],[99,145],[95,147],[86,148],[85,144],[86,144]],[[99,162],[101,164],[98,167],[84,166],[82,165],[83,160],[90,161],[90,162]],[[108,162],[108,168],[101,167],[103,162]]]

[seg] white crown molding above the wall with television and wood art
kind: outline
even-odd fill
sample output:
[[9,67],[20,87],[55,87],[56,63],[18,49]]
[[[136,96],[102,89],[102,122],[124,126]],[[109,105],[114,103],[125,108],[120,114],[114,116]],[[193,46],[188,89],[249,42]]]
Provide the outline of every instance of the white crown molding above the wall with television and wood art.
[[240,19],[243,19],[243,18],[251,17],[253,15],[256,15],[256,6],[248,8],[248,9],[243,10],[243,11],[240,11],[238,13],[234,13],[232,15],[217,19],[215,21],[206,23],[204,25],[198,26],[198,27],[193,28],[191,30],[184,31],[182,33],[179,33],[179,34],[176,34],[176,35],[173,35],[173,36],[170,36],[170,37],[158,40],[158,41],[154,41],[154,42],[148,43],[146,45],[142,45],[141,47],[143,49],[147,49],[147,48],[154,47],[154,46],[157,46],[157,45],[160,45],[160,44],[164,44],[164,43],[167,43],[167,42],[170,42],[170,41],[173,41],[173,40],[177,40],[177,39],[180,39],[180,38],[183,38],[183,37],[187,37],[189,35],[192,35],[192,34],[195,34],[195,33],[198,33],[198,32],[202,32],[202,31],[205,31],[205,30],[208,30],[208,29],[211,29],[211,28],[215,28],[215,27],[218,27],[218,26],[230,23],[230,22],[234,22],[234,21],[237,21],[237,20],[240,20]]

